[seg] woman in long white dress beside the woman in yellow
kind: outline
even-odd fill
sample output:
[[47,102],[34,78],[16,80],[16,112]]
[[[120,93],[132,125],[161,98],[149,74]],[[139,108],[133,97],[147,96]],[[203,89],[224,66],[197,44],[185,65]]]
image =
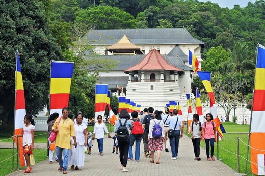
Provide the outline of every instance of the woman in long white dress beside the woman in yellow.
[[79,167],[84,166],[85,162],[84,146],[87,146],[87,126],[85,123],[83,123],[83,115],[81,113],[77,114],[76,116],[74,130],[77,147],[71,149],[72,152],[71,156],[69,156],[69,164],[72,165],[70,168],[71,170],[80,170]]

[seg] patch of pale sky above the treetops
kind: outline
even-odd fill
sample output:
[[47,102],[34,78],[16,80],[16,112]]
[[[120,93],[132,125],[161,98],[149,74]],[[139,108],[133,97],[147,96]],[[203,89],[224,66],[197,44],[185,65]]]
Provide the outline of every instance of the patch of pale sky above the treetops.
[[218,3],[220,7],[228,7],[229,9],[232,9],[235,4],[240,5],[240,7],[246,7],[248,5],[248,2],[254,3],[255,0],[199,0],[202,2],[213,2]]

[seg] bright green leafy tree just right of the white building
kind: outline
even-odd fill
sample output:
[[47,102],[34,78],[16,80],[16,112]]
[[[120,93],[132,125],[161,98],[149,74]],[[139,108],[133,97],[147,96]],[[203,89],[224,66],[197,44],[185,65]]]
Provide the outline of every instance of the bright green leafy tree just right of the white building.
[[202,62],[202,70],[208,72],[217,72],[219,65],[230,59],[230,52],[226,51],[222,46],[211,47],[206,58]]

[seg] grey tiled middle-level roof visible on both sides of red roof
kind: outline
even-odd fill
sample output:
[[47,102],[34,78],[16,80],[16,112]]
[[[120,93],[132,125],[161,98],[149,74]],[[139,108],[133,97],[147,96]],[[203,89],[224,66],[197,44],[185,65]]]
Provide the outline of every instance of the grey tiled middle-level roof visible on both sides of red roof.
[[[182,70],[188,70],[188,66],[186,66],[183,61],[181,61],[181,58],[179,57],[168,57],[167,55],[162,55],[166,61],[174,65],[177,68],[180,68]],[[97,59],[105,59],[105,60],[111,60],[111,61],[118,61],[119,63],[116,65],[116,68],[113,68],[113,70],[116,71],[123,71],[131,66],[134,66],[138,64],[145,55],[100,55]],[[93,59],[93,57],[85,57],[87,60]]]

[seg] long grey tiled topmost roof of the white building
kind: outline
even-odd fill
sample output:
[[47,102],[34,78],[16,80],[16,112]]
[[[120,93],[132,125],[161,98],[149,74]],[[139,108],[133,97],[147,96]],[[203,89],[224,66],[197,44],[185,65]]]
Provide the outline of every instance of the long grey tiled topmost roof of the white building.
[[126,34],[131,43],[140,44],[204,44],[194,39],[186,28],[144,28],[92,30],[85,38],[94,45],[113,45]]

